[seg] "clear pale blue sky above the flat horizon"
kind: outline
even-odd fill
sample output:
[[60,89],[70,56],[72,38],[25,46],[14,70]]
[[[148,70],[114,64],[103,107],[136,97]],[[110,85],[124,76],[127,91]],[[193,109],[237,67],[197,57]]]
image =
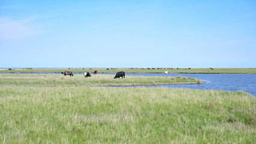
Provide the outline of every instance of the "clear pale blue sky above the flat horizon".
[[0,0],[0,68],[254,68],[256,1]]

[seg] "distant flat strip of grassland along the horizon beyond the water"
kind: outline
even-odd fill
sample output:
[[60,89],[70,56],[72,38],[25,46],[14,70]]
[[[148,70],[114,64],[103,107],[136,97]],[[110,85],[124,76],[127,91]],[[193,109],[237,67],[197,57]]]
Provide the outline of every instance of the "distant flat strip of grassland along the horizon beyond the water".
[[16,70],[7,70],[1,69],[0,73],[61,73],[63,71],[72,71],[73,73],[84,73],[90,72],[93,73],[94,70],[97,70],[99,73],[117,73],[118,71],[124,71],[126,73],[164,73],[164,71],[168,71],[168,73],[213,73],[213,74],[256,74],[256,68],[179,68],[179,69],[129,69],[129,68],[117,68],[115,70],[110,69],[106,70],[106,68],[82,68],[78,69],[64,69],[64,68],[49,68],[49,69],[16,69]]

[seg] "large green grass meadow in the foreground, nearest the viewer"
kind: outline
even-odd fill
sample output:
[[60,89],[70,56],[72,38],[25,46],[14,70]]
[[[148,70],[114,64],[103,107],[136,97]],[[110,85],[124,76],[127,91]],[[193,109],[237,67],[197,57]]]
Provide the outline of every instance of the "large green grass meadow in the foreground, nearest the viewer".
[[246,92],[0,86],[0,143],[255,143]]

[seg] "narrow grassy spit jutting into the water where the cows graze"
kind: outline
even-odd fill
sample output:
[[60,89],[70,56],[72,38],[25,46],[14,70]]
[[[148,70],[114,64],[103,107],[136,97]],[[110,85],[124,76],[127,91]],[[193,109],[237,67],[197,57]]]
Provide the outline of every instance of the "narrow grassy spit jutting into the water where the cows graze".
[[201,80],[190,77],[126,76],[114,79],[114,75],[97,74],[85,78],[83,74],[73,77],[63,74],[0,74],[0,85],[14,86],[147,86],[200,84]]

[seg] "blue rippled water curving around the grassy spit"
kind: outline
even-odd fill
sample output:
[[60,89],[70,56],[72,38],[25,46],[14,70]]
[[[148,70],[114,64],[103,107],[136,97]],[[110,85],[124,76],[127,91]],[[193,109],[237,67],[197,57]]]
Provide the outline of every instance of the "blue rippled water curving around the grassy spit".
[[[31,74],[31,73],[29,73]],[[60,74],[60,73],[39,73]],[[74,73],[83,74],[83,73]],[[115,74],[115,73],[99,73]],[[163,73],[126,73],[133,76],[165,76]],[[93,76],[93,75],[92,75]],[[221,91],[245,91],[256,97],[256,74],[177,74],[168,73],[166,76],[184,76],[204,80],[206,83],[200,85],[158,85],[144,87],[167,87],[167,88],[189,88],[189,89],[214,89]],[[114,77],[114,76],[113,76]],[[141,86],[135,86],[141,87]]]

